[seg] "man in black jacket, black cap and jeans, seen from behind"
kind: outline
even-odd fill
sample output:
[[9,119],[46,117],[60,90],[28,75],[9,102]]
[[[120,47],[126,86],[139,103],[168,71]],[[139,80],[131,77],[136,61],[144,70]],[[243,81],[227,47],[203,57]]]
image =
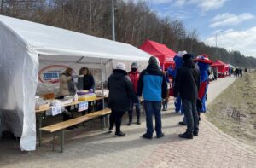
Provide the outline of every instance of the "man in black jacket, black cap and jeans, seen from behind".
[[192,61],[193,55],[186,54],[183,56],[183,67],[177,70],[174,84],[174,97],[178,94],[182,98],[183,111],[187,119],[187,130],[180,134],[181,138],[193,139],[198,136],[199,119],[196,110],[196,100],[200,87],[200,71]]

